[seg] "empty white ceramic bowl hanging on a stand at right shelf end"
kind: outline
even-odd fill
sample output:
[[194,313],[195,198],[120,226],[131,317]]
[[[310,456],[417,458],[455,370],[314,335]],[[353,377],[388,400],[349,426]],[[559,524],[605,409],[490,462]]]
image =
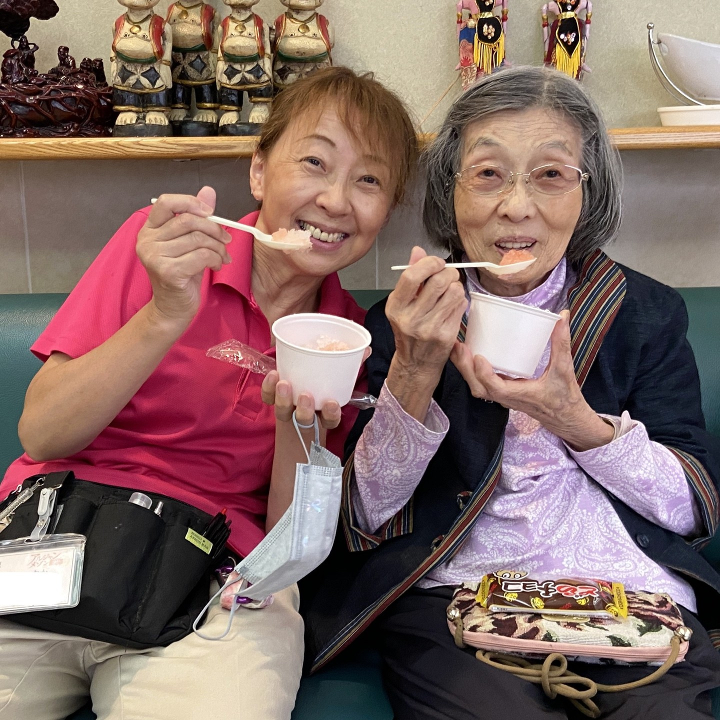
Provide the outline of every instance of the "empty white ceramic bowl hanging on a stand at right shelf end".
[[720,45],[665,33],[657,39],[668,74],[680,89],[703,102],[720,102]]

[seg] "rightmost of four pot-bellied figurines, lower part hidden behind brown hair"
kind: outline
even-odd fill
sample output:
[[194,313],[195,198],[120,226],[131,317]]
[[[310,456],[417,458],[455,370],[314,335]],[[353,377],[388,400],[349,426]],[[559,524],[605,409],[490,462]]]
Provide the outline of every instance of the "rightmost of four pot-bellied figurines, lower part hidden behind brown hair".
[[333,64],[333,31],[316,12],[323,0],[280,0],[287,11],[270,28],[273,84],[282,89],[299,78]]

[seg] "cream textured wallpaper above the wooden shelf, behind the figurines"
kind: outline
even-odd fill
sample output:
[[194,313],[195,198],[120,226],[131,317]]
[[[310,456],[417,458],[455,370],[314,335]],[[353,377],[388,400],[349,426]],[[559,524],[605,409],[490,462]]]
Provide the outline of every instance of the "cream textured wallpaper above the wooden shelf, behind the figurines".
[[[210,0],[224,16],[222,0]],[[109,68],[111,27],[124,9],[114,0],[59,0],[53,19],[32,21],[30,39],[40,45],[37,68],[48,71],[56,63],[58,45],[69,45],[79,61],[102,57]],[[164,12],[161,0],[156,12]],[[508,58],[513,64],[539,64],[542,57],[541,2],[508,0]],[[268,21],[280,12],[278,0],[255,6]],[[325,0],[321,12],[335,26],[337,64],[372,70],[408,102],[417,120],[423,120],[456,78],[455,3],[452,0]],[[659,125],[656,108],[676,104],[654,77],[647,54],[648,22],[659,32],[720,43],[720,0],[698,0],[691,6],[657,0],[596,0],[588,50],[593,73],[585,84],[611,127]],[[0,52],[9,40],[0,37]],[[424,122],[433,130],[451,99]]]

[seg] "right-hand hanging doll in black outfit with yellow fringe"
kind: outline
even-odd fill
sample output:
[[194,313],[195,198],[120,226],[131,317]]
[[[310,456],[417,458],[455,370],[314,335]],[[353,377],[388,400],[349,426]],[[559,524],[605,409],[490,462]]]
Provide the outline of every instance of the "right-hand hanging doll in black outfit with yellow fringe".
[[[585,19],[580,12],[585,11]],[[548,12],[556,17],[548,30]],[[582,73],[590,72],[585,65],[590,37],[590,18],[593,3],[590,0],[562,0],[542,6],[542,35],[545,48],[545,64],[576,80]]]

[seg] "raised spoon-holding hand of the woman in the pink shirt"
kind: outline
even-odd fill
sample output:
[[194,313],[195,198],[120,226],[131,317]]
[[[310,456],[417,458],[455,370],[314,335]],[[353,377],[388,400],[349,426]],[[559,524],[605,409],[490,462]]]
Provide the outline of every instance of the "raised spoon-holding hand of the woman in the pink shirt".
[[135,250],[153,287],[153,303],[164,317],[189,323],[200,305],[207,268],[230,262],[230,234],[211,220],[215,190],[192,195],[161,195],[138,233]]

